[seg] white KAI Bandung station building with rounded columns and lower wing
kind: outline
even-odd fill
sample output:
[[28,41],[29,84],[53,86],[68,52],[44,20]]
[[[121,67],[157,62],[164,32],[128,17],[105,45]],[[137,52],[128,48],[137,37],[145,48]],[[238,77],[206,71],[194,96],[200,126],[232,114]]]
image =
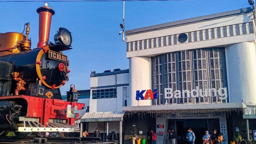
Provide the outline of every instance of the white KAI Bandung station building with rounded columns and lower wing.
[[[134,134],[146,138],[146,129],[156,131],[158,144],[166,142],[168,128],[177,142],[188,128],[196,144],[214,129],[223,133],[223,144],[238,132],[253,137],[254,25],[248,7],[127,30],[130,68],[91,75],[90,112],[124,111],[123,127],[113,127],[125,132],[125,143]],[[155,89],[155,95],[148,91]],[[156,99],[141,100],[146,96]]]

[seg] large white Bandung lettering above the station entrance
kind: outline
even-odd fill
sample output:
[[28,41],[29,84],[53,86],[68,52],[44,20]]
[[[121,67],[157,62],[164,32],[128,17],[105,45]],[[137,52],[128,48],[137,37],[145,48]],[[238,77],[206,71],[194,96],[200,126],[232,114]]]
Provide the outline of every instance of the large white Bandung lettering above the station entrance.
[[[168,98],[185,98],[185,93],[187,94],[187,98],[190,98],[190,95],[192,98],[196,97],[212,97],[212,92],[214,93],[214,96],[219,96],[220,99],[227,99],[227,88],[219,88],[218,90],[216,88],[206,88],[205,90],[199,89],[196,87],[196,89],[189,90],[175,90],[173,92],[172,88],[165,88],[164,89],[164,97],[165,99]],[[218,95],[217,95],[218,93]]]

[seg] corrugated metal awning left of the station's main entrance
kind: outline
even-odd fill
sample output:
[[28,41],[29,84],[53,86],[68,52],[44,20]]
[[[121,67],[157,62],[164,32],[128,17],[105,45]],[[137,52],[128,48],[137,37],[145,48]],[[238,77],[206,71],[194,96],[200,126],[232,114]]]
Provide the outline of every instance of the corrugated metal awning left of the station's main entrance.
[[124,111],[115,112],[86,112],[81,117],[80,122],[96,121],[123,121]]

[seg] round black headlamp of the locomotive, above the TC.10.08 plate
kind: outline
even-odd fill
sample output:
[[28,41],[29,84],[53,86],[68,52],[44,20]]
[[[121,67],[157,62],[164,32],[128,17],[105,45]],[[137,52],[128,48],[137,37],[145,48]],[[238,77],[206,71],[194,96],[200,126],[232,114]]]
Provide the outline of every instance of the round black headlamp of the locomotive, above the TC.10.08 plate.
[[70,47],[72,43],[71,32],[66,28],[60,27],[57,31],[58,33],[54,35],[55,44],[63,44]]

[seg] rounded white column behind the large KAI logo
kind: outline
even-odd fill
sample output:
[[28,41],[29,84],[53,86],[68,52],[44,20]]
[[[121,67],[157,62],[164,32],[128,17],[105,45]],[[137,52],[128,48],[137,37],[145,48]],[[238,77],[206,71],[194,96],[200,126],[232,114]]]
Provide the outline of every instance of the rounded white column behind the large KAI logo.
[[129,106],[149,106],[151,100],[136,100],[137,90],[151,89],[151,57],[130,58]]

